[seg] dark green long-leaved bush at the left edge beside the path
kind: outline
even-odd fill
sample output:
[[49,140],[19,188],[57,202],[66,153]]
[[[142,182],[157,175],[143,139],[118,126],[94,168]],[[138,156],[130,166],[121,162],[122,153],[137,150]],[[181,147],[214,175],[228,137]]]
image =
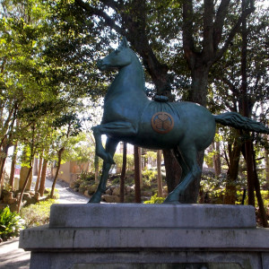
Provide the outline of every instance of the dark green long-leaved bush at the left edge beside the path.
[[23,224],[20,215],[11,212],[6,206],[0,211],[0,239],[7,240],[19,236],[20,230],[24,229]]

